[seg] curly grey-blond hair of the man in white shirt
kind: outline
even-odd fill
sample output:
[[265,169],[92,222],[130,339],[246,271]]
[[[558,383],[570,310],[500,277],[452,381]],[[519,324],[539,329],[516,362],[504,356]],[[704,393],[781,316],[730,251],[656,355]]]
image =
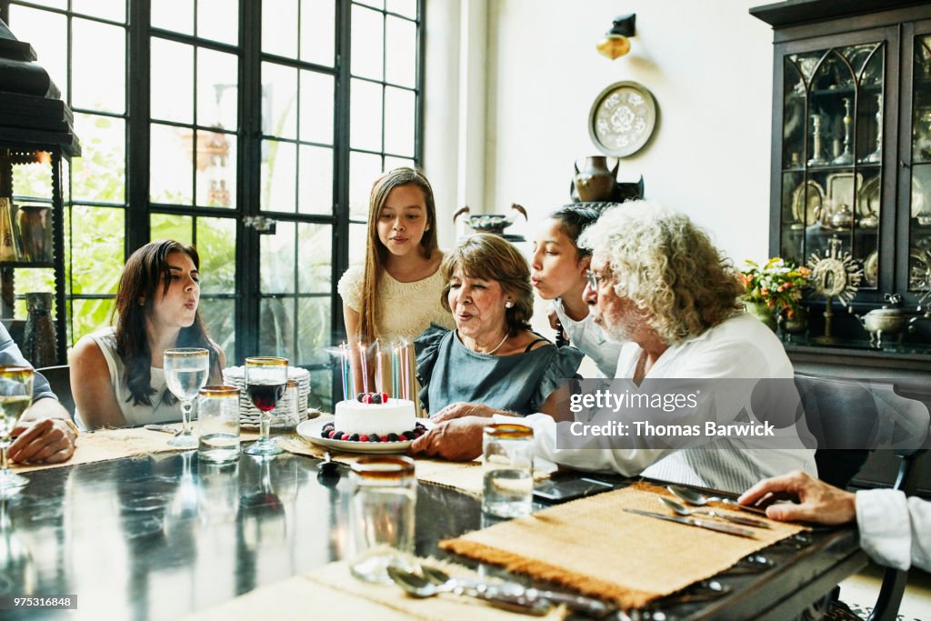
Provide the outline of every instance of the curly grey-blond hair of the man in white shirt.
[[668,344],[681,344],[740,309],[730,260],[685,215],[646,201],[608,209],[580,237],[604,257],[614,292],[646,312]]

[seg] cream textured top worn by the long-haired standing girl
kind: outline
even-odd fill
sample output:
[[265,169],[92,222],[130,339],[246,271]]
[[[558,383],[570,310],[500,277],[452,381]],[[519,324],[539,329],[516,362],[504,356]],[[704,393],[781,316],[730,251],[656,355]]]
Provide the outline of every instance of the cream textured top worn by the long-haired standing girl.
[[[358,312],[362,304],[362,265],[353,265],[340,278],[337,290],[346,306]],[[378,285],[378,337],[385,342],[402,338],[413,342],[431,323],[452,330],[452,313],[440,304],[443,277],[439,269],[415,282],[400,282],[387,272]]]

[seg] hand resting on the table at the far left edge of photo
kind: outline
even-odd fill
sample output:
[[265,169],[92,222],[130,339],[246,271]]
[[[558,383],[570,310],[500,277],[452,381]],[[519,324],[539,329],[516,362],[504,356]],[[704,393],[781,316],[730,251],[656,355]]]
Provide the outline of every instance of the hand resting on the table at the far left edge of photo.
[[17,438],[9,445],[7,455],[10,460],[57,464],[70,459],[77,433],[65,417],[68,417],[68,412],[57,399],[40,398],[35,401],[13,428],[13,435]]

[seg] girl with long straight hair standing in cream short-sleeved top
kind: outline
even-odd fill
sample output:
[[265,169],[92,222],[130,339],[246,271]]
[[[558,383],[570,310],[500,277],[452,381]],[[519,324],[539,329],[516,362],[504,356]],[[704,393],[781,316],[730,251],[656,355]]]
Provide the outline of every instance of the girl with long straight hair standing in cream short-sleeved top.
[[346,270],[337,287],[356,386],[374,386],[371,365],[362,380],[358,344],[413,343],[431,322],[452,329],[440,304],[442,258],[430,182],[415,169],[386,172],[371,188],[365,264]]

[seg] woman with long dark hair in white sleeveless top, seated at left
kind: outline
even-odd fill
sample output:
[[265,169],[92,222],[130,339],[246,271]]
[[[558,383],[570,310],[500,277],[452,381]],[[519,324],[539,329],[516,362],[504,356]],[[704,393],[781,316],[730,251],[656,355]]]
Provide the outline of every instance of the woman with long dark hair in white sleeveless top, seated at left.
[[200,257],[193,246],[153,241],[129,257],[116,290],[115,326],[74,345],[74,418],[90,429],[178,421],[165,385],[166,349],[209,351],[209,384],[222,384],[223,349],[207,336],[198,312]]

